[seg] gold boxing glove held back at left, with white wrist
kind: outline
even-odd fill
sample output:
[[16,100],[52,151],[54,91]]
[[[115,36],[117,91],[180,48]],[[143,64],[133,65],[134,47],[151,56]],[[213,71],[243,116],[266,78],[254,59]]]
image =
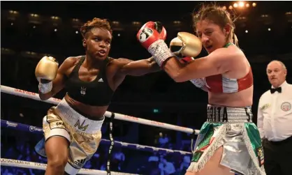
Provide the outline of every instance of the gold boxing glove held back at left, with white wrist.
[[52,90],[52,80],[57,76],[59,63],[52,56],[43,56],[36,66],[35,75],[38,79],[38,89],[41,93]]

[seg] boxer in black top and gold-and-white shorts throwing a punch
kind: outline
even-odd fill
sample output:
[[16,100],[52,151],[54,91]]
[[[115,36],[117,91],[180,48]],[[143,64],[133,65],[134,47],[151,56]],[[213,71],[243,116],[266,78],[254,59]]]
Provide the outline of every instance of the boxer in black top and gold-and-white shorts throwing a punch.
[[[166,31],[159,23],[156,29],[165,39]],[[107,20],[94,18],[81,26],[80,32],[85,55],[68,57],[61,66],[45,56],[36,66],[41,100],[64,88],[67,92],[43,118],[45,138],[36,150],[48,158],[46,175],[77,174],[98,149],[105,111],[126,75],[160,70],[153,58],[132,61],[109,57],[112,29]]]

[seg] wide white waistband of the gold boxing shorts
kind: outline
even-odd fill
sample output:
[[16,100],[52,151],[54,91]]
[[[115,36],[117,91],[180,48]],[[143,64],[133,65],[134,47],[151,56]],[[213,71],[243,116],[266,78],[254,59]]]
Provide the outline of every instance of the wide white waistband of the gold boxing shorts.
[[85,132],[86,134],[95,134],[99,130],[101,130],[101,126],[103,125],[103,120],[94,121],[91,119],[87,119],[85,116],[82,116],[78,112],[76,112],[69,104],[66,102],[65,98],[59,102],[56,107],[56,111],[58,112],[61,119],[63,119],[68,125],[75,128],[80,132]]

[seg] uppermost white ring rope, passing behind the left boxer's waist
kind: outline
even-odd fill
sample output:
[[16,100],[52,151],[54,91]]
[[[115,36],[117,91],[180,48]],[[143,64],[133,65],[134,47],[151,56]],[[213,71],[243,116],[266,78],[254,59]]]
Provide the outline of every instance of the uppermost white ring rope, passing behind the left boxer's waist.
[[[21,97],[24,97],[24,98],[31,98],[31,99],[34,99],[34,100],[42,101],[39,98],[38,93],[24,91],[22,89],[15,89],[15,88],[11,88],[11,87],[8,87],[8,86],[1,85],[1,92],[8,93],[8,94],[15,95],[15,96],[21,96]],[[54,104],[54,105],[58,105],[58,103],[60,101],[61,100],[58,99],[58,98],[50,98],[48,100],[43,100],[43,102],[48,102],[48,103]],[[108,117],[108,118],[111,117],[111,114],[112,114],[112,112],[108,112],[108,111],[105,112],[105,116]],[[143,124],[143,125],[152,125],[152,126],[156,126],[156,127],[159,127],[159,128],[166,128],[168,130],[177,130],[177,131],[186,132],[186,133],[189,133],[189,134],[194,132],[194,130],[191,129],[191,128],[185,128],[185,127],[182,127],[182,126],[179,126],[179,125],[170,125],[168,123],[161,123],[159,121],[150,121],[150,120],[147,120],[147,119],[141,119],[141,118],[137,118],[135,116],[128,116],[128,115],[118,114],[118,113],[115,113],[115,119],[122,120],[122,121],[131,121],[133,123],[140,123],[140,124]],[[198,135],[199,130],[195,130],[195,133],[196,133],[196,135]]]

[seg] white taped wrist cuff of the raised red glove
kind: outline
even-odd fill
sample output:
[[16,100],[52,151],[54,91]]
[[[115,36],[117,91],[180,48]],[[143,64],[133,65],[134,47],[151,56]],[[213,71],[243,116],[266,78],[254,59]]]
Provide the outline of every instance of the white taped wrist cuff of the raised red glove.
[[156,40],[152,45],[149,46],[148,52],[152,54],[156,63],[161,67],[164,61],[168,58],[174,56],[173,53],[170,52],[168,46],[164,42],[164,40]]

